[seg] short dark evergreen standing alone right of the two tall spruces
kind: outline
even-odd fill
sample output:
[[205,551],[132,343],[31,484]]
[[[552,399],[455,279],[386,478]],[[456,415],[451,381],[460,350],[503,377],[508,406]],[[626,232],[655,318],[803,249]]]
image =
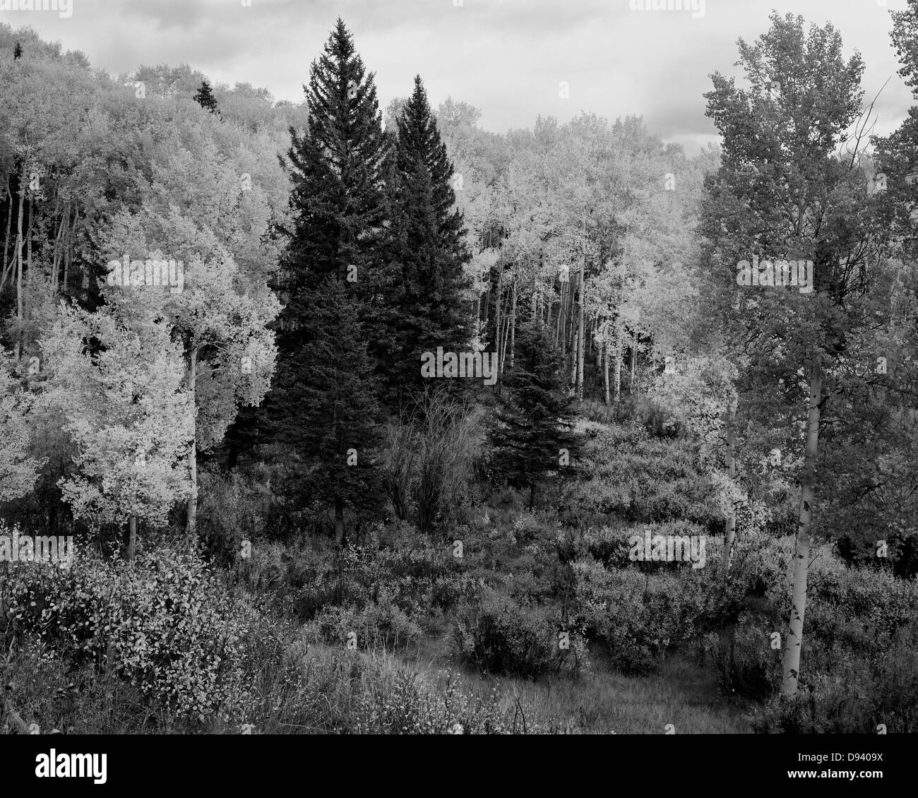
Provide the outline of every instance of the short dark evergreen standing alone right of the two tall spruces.
[[550,472],[572,468],[577,450],[572,399],[565,392],[565,359],[538,320],[521,324],[513,368],[494,433],[498,470],[515,488],[536,488]]

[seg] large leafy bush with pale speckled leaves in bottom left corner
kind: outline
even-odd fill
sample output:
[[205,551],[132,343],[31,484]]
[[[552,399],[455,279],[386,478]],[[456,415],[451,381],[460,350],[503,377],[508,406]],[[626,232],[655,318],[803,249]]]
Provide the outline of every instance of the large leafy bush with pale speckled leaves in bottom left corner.
[[196,554],[161,548],[133,567],[95,558],[67,570],[18,564],[3,593],[14,635],[39,637],[74,667],[117,673],[170,714],[203,721],[248,709],[243,674],[259,617]]

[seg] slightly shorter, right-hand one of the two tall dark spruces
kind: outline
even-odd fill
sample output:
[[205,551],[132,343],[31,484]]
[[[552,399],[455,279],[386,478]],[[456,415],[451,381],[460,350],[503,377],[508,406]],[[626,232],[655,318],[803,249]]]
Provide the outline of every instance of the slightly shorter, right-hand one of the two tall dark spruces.
[[453,164],[446,156],[420,76],[396,118],[394,190],[390,192],[391,263],[397,275],[390,293],[392,349],[386,399],[423,388],[420,355],[467,349],[471,318],[463,291],[465,245],[462,213],[455,207]]

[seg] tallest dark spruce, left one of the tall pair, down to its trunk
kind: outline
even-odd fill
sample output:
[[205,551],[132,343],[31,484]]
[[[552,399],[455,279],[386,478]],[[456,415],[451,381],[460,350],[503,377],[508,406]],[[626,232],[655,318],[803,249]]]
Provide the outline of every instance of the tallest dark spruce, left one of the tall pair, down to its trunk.
[[[374,361],[375,261],[384,235],[386,140],[373,73],[339,18],[304,86],[308,129],[291,129],[292,229],[277,288],[278,360],[260,426],[291,454],[291,496],[343,511],[382,497]],[[353,450],[350,451],[350,450]]]

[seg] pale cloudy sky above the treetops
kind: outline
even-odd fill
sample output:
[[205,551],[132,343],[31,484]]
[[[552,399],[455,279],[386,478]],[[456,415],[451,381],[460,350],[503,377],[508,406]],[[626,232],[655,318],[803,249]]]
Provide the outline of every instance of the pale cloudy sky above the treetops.
[[[889,12],[906,0],[704,0],[703,16],[631,7],[642,0],[72,2],[69,18],[0,10],[0,22],[29,24],[112,74],[188,62],[215,81],[265,86],[298,102],[309,62],[341,15],[376,73],[382,107],[408,94],[420,73],[434,105],[446,96],[465,100],[496,131],[530,127],[540,113],[562,121],[580,110],[610,119],[641,114],[663,139],[697,152],[716,139],[701,96],[709,74],[735,72],[736,39],[763,33],[773,8],[832,21],[845,55],[860,51],[867,63],[868,98],[891,77],[877,104],[877,132],[897,127],[914,102],[896,74],[889,35]],[[561,81],[569,98],[559,97]]]

